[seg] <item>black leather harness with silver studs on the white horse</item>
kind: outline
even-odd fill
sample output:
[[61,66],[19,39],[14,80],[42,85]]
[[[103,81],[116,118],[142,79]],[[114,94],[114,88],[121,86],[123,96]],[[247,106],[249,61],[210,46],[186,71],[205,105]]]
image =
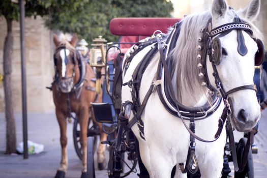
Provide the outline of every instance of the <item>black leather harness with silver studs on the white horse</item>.
[[[206,28],[201,29],[202,36],[198,38],[199,45],[197,46],[198,54],[196,60],[199,61],[197,66],[199,70],[198,77],[202,79],[202,86],[206,86],[207,88],[209,88],[209,94],[211,95],[213,102],[212,106],[206,104],[204,107],[201,108],[200,107],[191,108],[183,106],[175,99],[170,77],[171,58],[168,54],[175,47],[177,38],[179,38],[181,24],[182,22],[179,22],[174,25],[174,28],[168,38],[166,38],[165,35],[162,34],[161,32],[159,34],[154,33],[152,38],[148,38],[145,41],[140,41],[138,44],[134,45],[134,47],[130,50],[130,54],[126,56],[124,71],[126,71],[127,68],[129,67],[132,58],[136,55],[136,53],[140,51],[139,48],[140,43],[142,47],[151,45],[152,48],[149,52],[147,52],[147,54],[143,57],[142,61],[136,67],[135,71],[133,72],[132,79],[129,82],[123,84],[123,85],[128,85],[131,88],[131,95],[133,100],[133,102],[127,101],[126,103],[124,103],[124,107],[130,105],[132,108],[132,112],[134,114],[132,120],[129,121],[127,127],[131,128],[134,124],[137,124],[140,136],[143,139],[145,139],[143,132],[144,126],[141,120],[141,114],[145,108],[145,105],[149,97],[155,90],[157,90],[159,98],[163,103],[164,107],[172,115],[181,118],[185,128],[190,133],[190,143],[189,143],[186,165],[184,166],[184,163],[180,163],[179,165],[183,173],[190,171],[191,173],[194,174],[198,170],[198,163],[195,156],[195,146],[196,146],[195,139],[202,142],[216,141],[220,137],[226,118],[232,114],[231,101],[229,100],[228,97],[229,94],[241,90],[256,91],[254,84],[238,86],[232,88],[227,92],[224,90],[223,83],[220,80],[216,67],[217,65],[219,65],[222,56],[222,47],[220,45],[219,38],[227,35],[232,30],[238,31],[238,39],[237,39],[239,44],[238,52],[244,56],[247,53],[247,49],[242,31],[247,32],[251,37],[253,35],[253,32],[251,30],[250,25],[245,22],[242,22],[239,18],[235,18],[234,22],[221,25],[215,29],[212,28],[212,19],[209,19]],[[257,43],[259,49],[255,56],[255,65],[258,66],[262,63],[263,60],[264,47],[263,43],[259,39],[254,39],[254,41]],[[147,91],[143,99],[143,102],[141,103],[139,98],[139,89],[140,89],[142,74],[144,73],[147,65],[149,64],[151,58],[156,52],[160,53],[160,61],[158,65],[157,75],[153,80],[152,84],[150,85],[149,91]],[[209,78],[207,77],[207,69],[205,67],[206,56],[209,56],[209,60],[212,64],[213,76],[215,77],[216,88],[212,86],[212,84],[209,81]],[[220,97],[216,95],[215,91],[219,92],[218,95]],[[224,109],[221,117],[218,120],[218,130],[215,134],[215,139],[205,140],[195,135],[195,121],[202,120],[207,116],[211,115],[213,112],[215,112],[218,109],[222,100],[224,102]],[[120,114],[119,118],[125,121],[125,117],[123,117],[122,114]],[[127,118],[129,118],[129,116],[127,116]],[[189,127],[186,125],[185,120],[190,121]],[[229,132],[229,142],[232,150],[235,171],[242,171],[245,168],[247,162],[249,146],[250,144],[253,143],[254,131],[249,132],[249,139],[246,145],[247,150],[245,151],[245,154],[243,156],[243,158],[245,159],[243,159],[240,168],[238,166],[238,162],[236,159],[235,144],[233,139],[232,126],[230,125],[230,122],[229,122],[228,132]]]

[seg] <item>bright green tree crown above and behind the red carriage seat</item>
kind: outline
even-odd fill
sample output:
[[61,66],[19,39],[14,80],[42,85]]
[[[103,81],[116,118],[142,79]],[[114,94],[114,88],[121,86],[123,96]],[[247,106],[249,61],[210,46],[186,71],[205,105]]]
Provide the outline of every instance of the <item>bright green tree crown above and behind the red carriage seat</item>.
[[166,0],[91,0],[68,13],[50,13],[46,26],[63,32],[77,33],[91,43],[99,35],[108,41],[118,37],[109,32],[109,22],[115,17],[169,17],[172,3]]

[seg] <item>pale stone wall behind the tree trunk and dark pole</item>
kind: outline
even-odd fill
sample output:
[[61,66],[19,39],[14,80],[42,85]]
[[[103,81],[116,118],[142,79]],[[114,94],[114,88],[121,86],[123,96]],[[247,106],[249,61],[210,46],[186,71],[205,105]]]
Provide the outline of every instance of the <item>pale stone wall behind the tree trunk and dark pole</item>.
[[[25,60],[27,109],[29,112],[54,110],[52,93],[45,87],[50,86],[53,78],[51,33],[44,26],[41,17],[25,18]],[[0,73],[3,74],[3,48],[7,34],[4,17],[0,17]],[[13,22],[13,100],[15,111],[21,111],[21,61],[20,26]],[[4,86],[0,83],[0,112],[5,110]]]

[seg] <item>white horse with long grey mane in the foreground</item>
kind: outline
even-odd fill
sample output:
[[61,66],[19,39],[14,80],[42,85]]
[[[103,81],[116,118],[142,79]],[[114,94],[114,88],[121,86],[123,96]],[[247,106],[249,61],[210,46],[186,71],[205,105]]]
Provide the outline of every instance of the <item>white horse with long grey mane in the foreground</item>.
[[[198,37],[202,35],[200,31],[206,28],[209,19],[212,19],[213,29],[233,22],[236,15],[251,26],[253,36],[244,30],[241,32],[247,47],[246,55],[241,55],[238,52],[237,29],[229,31],[224,36],[217,36],[222,46],[222,57],[220,64],[216,65],[216,69],[225,92],[239,86],[253,84],[254,58],[258,50],[257,43],[253,38],[260,39],[261,34],[251,22],[259,14],[259,8],[260,1],[253,0],[246,9],[235,12],[232,8],[228,7],[224,0],[215,0],[211,11],[189,15],[182,20],[180,36],[175,42],[176,46],[170,52],[172,56],[171,83],[172,86],[175,86],[173,90],[179,103],[190,108],[202,107],[206,103],[211,104],[211,95],[209,94],[211,91],[209,91],[206,87],[207,84],[203,83],[201,79],[199,61],[197,60]],[[132,58],[128,69],[123,69],[125,71],[123,83],[132,79],[136,66],[151,47],[152,45],[139,51]],[[133,47],[131,49],[134,50]],[[126,53],[127,57],[131,55],[132,51],[130,51]],[[126,61],[125,57],[124,63]],[[160,54],[157,52],[143,73],[139,90],[141,103],[151,83],[155,80],[159,61]],[[206,63],[204,65],[207,69],[207,73],[204,75],[209,78],[212,87],[217,88],[209,55],[206,56]],[[243,90],[235,91],[228,95],[231,100],[232,111],[230,121],[232,126],[238,131],[251,130],[260,118],[260,106],[256,93],[248,89],[252,88],[243,88]],[[221,96],[222,94],[216,90],[214,92],[218,92],[219,96]],[[129,86],[122,87],[123,103],[125,101],[132,101],[130,92],[131,88]],[[222,114],[223,108],[224,103],[221,102],[211,115],[207,116],[204,120],[195,122],[197,136],[207,140],[214,139],[218,129],[218,119]],[[130,120],[132,117],[133,113]],[[186,174],[179,170],[179,163],[186,162],[190,134],[183,125],[181,118],[170,114],[164,108],[157,91],[154,91],[147,101],[141,115],[141,120],[144,125],[145,140],[140,137],[137,124],[132,127],[132,130],[138,138],[141,159],[149,171],[150,177],[170,177],[171,170],[175,165],[175,177],[186,177]],[[189,121],[185,122],[189,125]],[[195,141],[196,158],[202,177],[214,178],[220,176],[223,167],[225,141],[225,129],[223,129],[220,137],[214,142]]]

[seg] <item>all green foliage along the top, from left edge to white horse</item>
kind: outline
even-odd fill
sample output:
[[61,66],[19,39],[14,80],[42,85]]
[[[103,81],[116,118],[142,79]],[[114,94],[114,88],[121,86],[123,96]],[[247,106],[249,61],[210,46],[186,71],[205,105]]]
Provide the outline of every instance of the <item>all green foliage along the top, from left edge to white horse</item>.
[[[26,16],[44,16],[49,29],[77,33],[91,43],[99,35],[108,41],[118,37],[109,32],[115,17],[169,17],[172,3],[166,0],[27,0]],[[0,16],[18,20],[19,5],[0,0]]]

